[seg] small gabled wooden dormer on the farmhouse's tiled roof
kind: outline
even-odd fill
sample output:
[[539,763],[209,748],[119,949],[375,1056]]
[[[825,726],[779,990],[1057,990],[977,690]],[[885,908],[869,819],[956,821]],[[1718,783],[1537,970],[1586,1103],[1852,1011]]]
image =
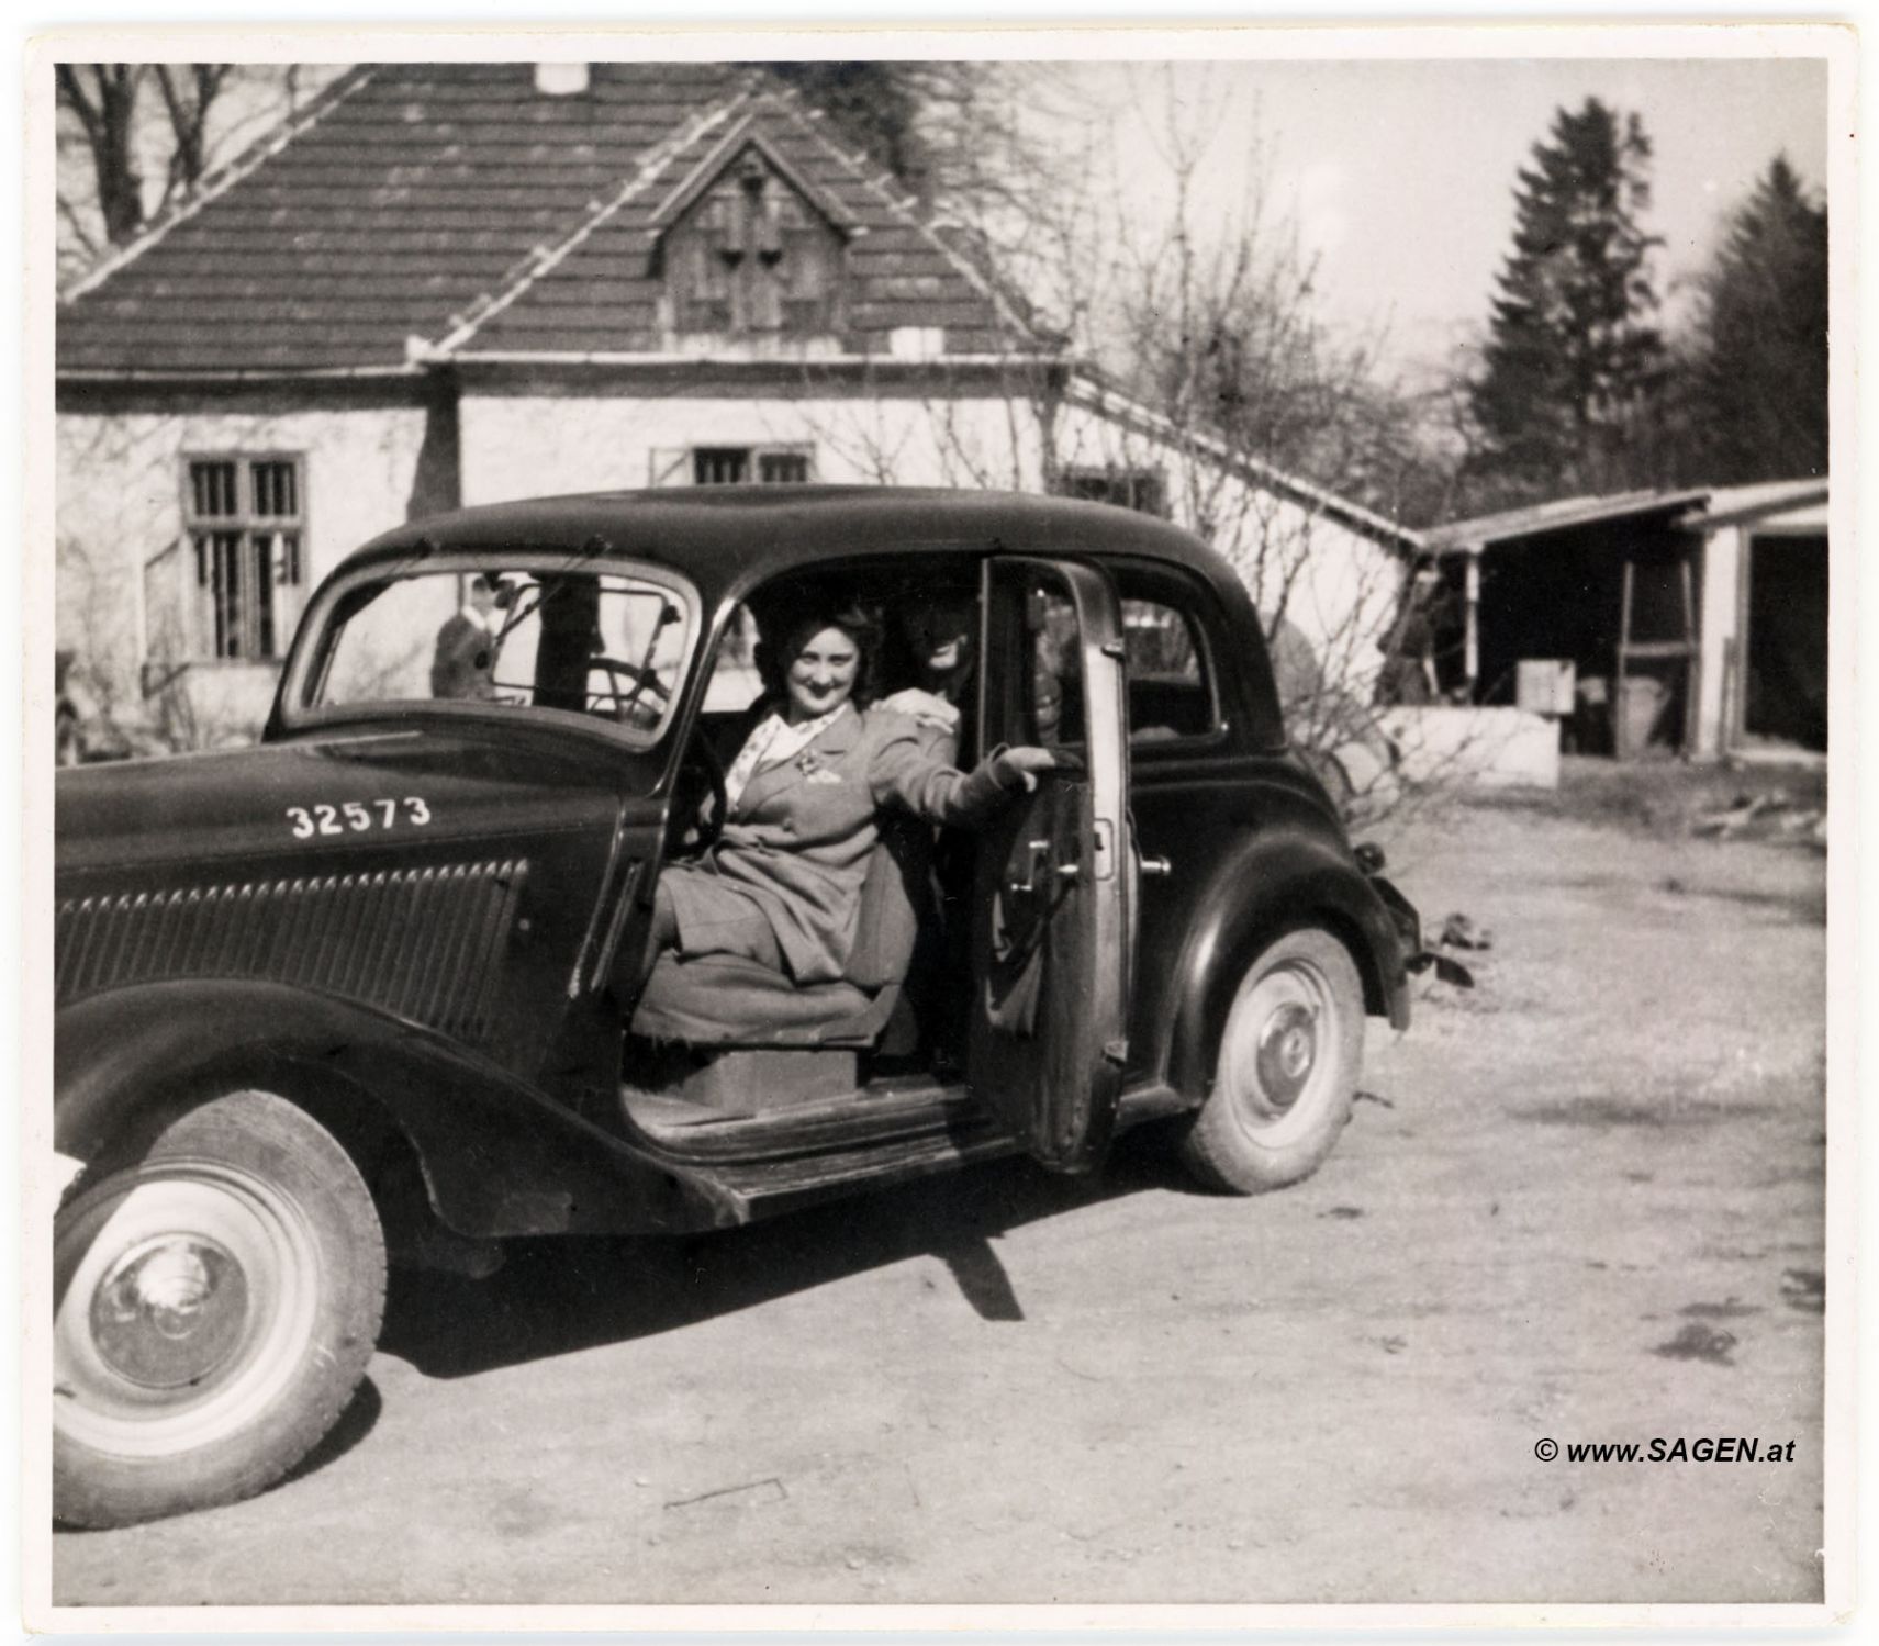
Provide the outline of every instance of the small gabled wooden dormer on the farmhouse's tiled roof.
[[680,334],[840,329],[842,233],[755,143],[673,212],[661,256]]

